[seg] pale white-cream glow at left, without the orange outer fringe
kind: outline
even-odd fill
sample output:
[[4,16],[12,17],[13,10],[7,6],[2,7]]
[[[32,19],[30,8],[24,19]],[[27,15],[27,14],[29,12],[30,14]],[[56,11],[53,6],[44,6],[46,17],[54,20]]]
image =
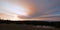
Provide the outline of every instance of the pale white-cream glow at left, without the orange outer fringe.
[[[0,13],[3,13],[3,16],[1,15],[1,19],[8,19],[12,21],[19,20],[17,16],[26,16],[28,17],[28,11],[29,9],[27,7],[24,7],[23,5],[15,5],[12,3],[2,2],[2,11]],[[11,17],[12,16],[12,17]],[[8,18],[9,17],[9,18]]]

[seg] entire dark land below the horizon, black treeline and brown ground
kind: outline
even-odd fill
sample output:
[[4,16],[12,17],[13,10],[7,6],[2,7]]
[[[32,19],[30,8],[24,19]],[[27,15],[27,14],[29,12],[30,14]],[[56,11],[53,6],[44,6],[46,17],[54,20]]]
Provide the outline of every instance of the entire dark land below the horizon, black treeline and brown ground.
[[0,30],[60,30],[59,24],[60,22],[0,20]]

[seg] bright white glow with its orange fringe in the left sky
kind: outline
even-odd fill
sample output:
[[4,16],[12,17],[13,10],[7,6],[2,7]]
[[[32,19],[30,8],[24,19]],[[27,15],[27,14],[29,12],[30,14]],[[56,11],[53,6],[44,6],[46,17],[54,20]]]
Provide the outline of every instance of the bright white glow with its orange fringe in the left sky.
[[[11,21],[18,21],[24,20],[26,17],[30,17],[33,14],[33,6],[29,5],[28,3],[11,3],[11,2],[1,2],[3,16],[1,15],[1,19],[4,20],[11,20]],[[21,17],[18,17],[21,16]],[[27,19],[27,18],[26,18]]]

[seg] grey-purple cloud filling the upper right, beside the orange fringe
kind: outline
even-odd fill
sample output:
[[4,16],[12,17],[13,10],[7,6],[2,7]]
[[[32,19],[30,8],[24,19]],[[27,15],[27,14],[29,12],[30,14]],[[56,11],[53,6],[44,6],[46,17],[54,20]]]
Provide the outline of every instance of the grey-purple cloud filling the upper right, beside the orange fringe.
[[60,6],[59,0],[28,0],[28,2],[33,2],[35,9],[37,10],[32,17],[38,16],[56,16],[56,14],[60,14]]

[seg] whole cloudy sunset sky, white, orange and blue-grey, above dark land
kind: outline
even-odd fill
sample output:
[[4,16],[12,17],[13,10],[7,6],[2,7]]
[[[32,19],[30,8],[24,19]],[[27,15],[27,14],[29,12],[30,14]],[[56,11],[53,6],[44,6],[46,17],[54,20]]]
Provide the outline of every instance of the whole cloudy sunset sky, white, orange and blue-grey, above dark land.
[[0,1],[1,1],[0,14],[3,13],[9,16],[14,17],[17,16],[19,19],[24,18],[30,20],[37,19],[50,21],[60,20],[60,0],[0,0]]

